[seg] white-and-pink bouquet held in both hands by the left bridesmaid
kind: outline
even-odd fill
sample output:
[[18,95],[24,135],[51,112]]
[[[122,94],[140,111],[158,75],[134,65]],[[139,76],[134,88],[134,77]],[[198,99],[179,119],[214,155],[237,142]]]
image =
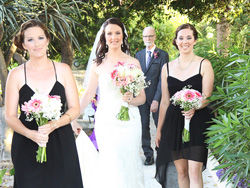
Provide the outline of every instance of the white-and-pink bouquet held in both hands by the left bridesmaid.
[[[28,102],[24,102],[21,110],[26,114],[26,121],[36,120],[38,126],[48,123],[48,121],[58,120],[61,116],[61,98],[58,95],[45,95],[38,91]],[[36,161],[43,163],[47,161],[46,145],[39,145]]]

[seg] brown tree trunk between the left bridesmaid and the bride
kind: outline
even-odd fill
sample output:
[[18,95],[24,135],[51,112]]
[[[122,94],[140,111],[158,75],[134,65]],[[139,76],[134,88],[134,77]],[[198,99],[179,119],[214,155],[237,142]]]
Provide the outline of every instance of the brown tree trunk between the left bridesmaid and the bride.
[[71,67],[73,62],[73,50],[70,37],[68,35],[66,35],[66,37],[61,40],[61,53],[61,62],[66,63]]

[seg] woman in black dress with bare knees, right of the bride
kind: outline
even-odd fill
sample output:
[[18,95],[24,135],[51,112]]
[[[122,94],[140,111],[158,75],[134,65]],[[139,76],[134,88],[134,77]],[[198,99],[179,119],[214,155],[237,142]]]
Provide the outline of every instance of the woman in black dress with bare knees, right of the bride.
[[[193,52],[197,39],[198,33],[193,25],[179,26],[173,44],[180,56],[162,68],[162,100],[156,134],[156,179],[164,188],[167,187],[167,165],[171,161],[174,161],[177,169],[180,188],[203,187],[202,169],[207,162],[204,132],[209,126],[207,122],[211,120],[208,100],[204,99],[199,109],[187,112],[170,102],[170,98],[187,85],[206,97],[213,91],[214,73],[211,63]],[[190,119],[190,141],[183,143],[184,117]]]

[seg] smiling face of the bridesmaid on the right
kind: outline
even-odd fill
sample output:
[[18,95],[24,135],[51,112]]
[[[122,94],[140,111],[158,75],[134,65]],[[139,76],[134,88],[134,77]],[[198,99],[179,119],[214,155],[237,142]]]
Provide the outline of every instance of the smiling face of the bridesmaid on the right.
[[175,41],[179,51],[182,53],[189,53],[193,50],[194,45],[196,44],[194,33],[191,29],[180,30]]

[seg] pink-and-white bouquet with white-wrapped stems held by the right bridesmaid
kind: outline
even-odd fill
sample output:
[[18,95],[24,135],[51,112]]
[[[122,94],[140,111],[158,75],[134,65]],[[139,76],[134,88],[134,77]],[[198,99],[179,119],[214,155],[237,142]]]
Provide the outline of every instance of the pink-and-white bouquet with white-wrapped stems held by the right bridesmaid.
[[[184,111],[200,108],[202,106],[202,100],[204,99],[204,96],[199,91],[190,89],[190,87],[190,85],[184,87],[170,98],[170,101],[172,101],[174,105],[180,105]],[[183,142],[190,141],[189,124],[190,119],[185,118],[184,129],[182,132]]]

